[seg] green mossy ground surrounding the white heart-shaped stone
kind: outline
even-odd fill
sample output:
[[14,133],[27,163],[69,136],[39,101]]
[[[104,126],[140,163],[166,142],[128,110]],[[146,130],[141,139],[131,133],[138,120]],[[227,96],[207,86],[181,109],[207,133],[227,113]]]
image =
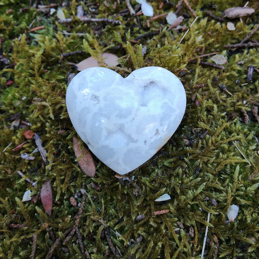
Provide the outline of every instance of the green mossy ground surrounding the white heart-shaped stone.
[[[113,258],[105,238],[104,227],[109,226],[112,242],[121,258],[200,258],[206,225],[208,238],[206,258],[258,258],[259,255],[259,127],[252,115],[252,102],[259,101],[259,77],[255,71],[252,81],[247,79],[250,65],[259,68],[256,48],[231,52],[225,44],[239,43],[258,23],[259,5],[249,2],[256,12],[250,17],[231,20],[235,31],[228,31],[225,21],[208,17],[208,9],[222,16],[229,7],[243,6],[242,0],[193,0],[190,6],[199,16],[190,32],[179,44],[185,32],[167,31],[164,18],[120,16],[126,9],[124,1],[68,1],[63,9],[66,17],[73,16],[69,24],[59,24],[56,14],[42,13],[29,6],[29,0],[0,0],[1,50],[9,64],[0,63],[0,258],[28,259],[33,249],[33,236],[37,234],[35,258],[46,258],[55,239],[64,240],[64,232],[75,224],[78,207],[73,207],[70,197],[84,188],[88,194],[79,222],[79,231],[85,249],[92,259]],[[114,3],[117,2],[116,9]],[[121,2],[121,3],[118,3]],[[176,8],[162,0],[149,1],[155,15]],[[42,4],[49,4],[42,1]],[[173,0],[176,4],[177,1]],[[216,9],[209,9],[213,3]],[[56,1],[57,5],[61,1]],[[77,4],[81,4],[89,17],[109,17],[121,25],[83,23],[75,17]],[[133,7],[137,5],[132,1]],[[12,9],[12,11],[10,11]],[[9,10],[9,11],[8,11]],[[190,14],[184,7],[182,12]],[[183,25],[190,27],[194,17],[185,18]],[[44,29],[30,32],[32,27]],[[63,34],[63,31],[71,35]],[[134,40],[139,35],[158,31],[158,35]],[[77,35],[83,33],[83,36]],[[198,37],[202,36],[200,41]],[[259,31],[251,39],[258,39]],[[142,57],[142,46],[147,52]],[[188,63],[188,59],[205,53],[220,52],[228,63],[225,69]],[[85,50],[85,54],[63,57],[63,53]],[[187,108],[181,125],[168,143],[148,162],[135,170],[132,181],[114,177],[115,173],[94,157],[96,176],[87,177],[78,168],[72,147],[76,135],[66,109],[67,76],[73,72],[70,63],[77,63],[90,55],[100,59],[103,52],[116,54],[120,66],[113,68],[121,75],[144,66],[161,66],[178,75],[187,93]],[[204,61],[210,61],[209,57]],[[14,83],[6,85],[9,80]],[[236,81],[240,83],[237,84]],[[204,87],[197,88],[197,85]],[[225,85],[233,96],[222,91]],[[193,95],[197,93],[195,101]],[[244,123],[244,108],[249,122]],[[12,128],[10,116],[21,112],[21,120],[31,127]],[[242,121],[240,120],[242,119]],[[34,160],[24,160],[21,153],[31,154],[36,148],[34,139],[28,140],[19,150],[13,151],[26,139],[25,130],[36,132],[47,151],[48,164],[35,153]],[[65,130],[63,134],[58,134]],[[206,136],[204,136],[207,131]],[[184,139],[189,140],[189,145]],[[244,159],[233,141],[238,145]],[[17,171],[32,181],[34,189]],[[133,174],[130,173],[130,176]],[[40,194],[44,182],[52,184],[52,217],[45,213],[40,199],[36,203],[21,203],[23,193]],[[94,182],[100,190],[88,186]],[[157,204],[154,200],[169,193],[171,200]],[[217,205],[213,206],[212,199]],[[232,204],[239,206],[234,222],[225,224],[226,212]],[[215,205],[215,204],[214,204]],[[153,216],[161,209],[170,212]],[[207,214],[209,224],[206,223]],[[145,219],[136,217],[144,214]],[[179,223],[183,228],[179,228]],[[24,225],[14,228],[12,224]],[[191,228],[194,235],[189,233]],[[121,234],[117,237],[115,232]],[[84,258],[77,235],[66,245],[55,248],[52,258]],[[216,255],[216,257],[215,257]]]

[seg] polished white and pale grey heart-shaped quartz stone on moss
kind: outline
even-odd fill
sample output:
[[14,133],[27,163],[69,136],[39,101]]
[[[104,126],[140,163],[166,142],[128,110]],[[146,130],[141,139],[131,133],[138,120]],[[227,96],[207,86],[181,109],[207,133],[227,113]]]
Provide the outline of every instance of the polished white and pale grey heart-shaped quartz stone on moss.
[[112,170],[125,174],[171,138],[184,116],[186,94],[167,69],[146,67],[123,78],[97,67],[72,79],[66,103],[88,148]]

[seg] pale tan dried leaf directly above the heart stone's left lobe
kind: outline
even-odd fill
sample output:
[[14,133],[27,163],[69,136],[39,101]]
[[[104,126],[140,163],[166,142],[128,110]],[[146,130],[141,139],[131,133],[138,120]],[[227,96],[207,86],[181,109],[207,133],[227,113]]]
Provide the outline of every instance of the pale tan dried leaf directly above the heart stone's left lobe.
[[[102,58],[104,58],[104,63],[108,66],[117,66],[119,65],[117,59],[118,57],[114,54],[110,53],[103,53]],[[93,68],[93,67],[100,67],[99,62],[94,59],[93,57],[88,57],[85,60],[79,62],[77,65],[77,70],[82,71],[84,69]]]

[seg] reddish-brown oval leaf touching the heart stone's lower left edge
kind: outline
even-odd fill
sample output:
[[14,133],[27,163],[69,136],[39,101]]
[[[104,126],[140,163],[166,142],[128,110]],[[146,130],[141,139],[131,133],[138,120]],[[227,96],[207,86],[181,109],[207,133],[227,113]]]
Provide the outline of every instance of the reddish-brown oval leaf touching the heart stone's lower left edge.
[[81,170],[89,177],[94,177],[95,175],[95,163],[89,153],[89,151],[84,147],[83,150],[80,149],[79,141],[74,136],[73,137],[73,148],[75,152],[75,157],[78,158],[77,162]]

